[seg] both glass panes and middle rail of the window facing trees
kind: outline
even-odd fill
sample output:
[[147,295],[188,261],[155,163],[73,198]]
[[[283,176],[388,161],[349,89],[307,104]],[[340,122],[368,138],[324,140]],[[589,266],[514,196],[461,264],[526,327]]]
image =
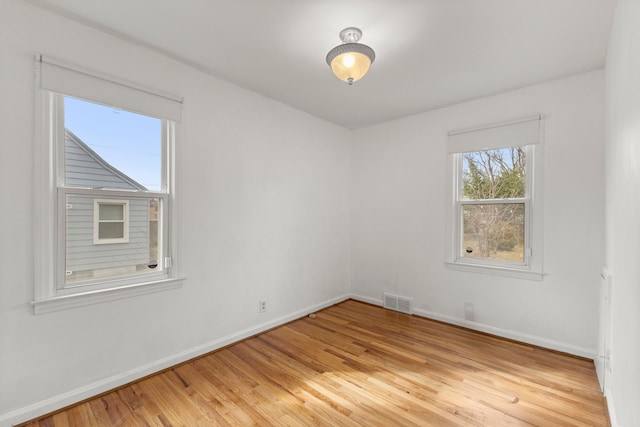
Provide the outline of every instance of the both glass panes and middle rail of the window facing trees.
[[526,147],[509,147],[457,155],[459,260],[527,263],[526,152]]

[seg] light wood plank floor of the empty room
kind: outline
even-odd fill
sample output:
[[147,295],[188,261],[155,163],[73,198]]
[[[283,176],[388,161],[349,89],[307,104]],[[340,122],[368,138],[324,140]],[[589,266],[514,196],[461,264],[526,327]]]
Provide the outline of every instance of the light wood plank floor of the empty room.
[[608,426],[593,362],[346,301],[35,426]]

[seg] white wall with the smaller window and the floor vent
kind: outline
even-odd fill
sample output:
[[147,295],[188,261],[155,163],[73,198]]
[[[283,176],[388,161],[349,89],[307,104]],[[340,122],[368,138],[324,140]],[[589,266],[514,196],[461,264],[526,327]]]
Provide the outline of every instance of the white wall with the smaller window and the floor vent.
[[[542,281],[445,268],[447,132],[543,114]],[[352,291],[418,314],[593,357],[604,257],[602,71],[354,133]],[[464,321],[464,302],[476,324]]]

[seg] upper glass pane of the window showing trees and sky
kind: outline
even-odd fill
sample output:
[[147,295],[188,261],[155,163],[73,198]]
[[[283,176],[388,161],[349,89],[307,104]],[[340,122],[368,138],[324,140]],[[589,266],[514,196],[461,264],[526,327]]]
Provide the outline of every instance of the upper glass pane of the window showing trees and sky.
[[525,147],[462,155],[464,200],[525,197]]

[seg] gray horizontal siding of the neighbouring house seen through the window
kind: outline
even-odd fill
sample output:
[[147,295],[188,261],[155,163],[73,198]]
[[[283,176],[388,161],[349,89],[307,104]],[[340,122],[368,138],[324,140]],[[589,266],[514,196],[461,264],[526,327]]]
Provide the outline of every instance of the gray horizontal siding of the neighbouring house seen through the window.
[[[67,187],[102,187],[140,190],[146,188],[115,169],[67,130],[65,138],[65,173]],[[113,198],[129,201],[129,241],[95,244],[94,201],[111,197],[68,195],[66,215],[66,270],[135,267],[149,261],[148,199]]]

